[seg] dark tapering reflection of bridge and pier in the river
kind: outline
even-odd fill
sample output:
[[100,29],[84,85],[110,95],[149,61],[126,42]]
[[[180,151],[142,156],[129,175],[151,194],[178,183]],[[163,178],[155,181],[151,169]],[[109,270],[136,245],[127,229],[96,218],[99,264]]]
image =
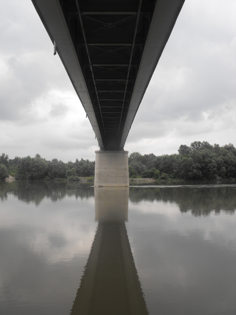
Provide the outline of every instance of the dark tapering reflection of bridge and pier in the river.
[[98,228],[70,314],[148,314],[125,226],[129,187],[94,193]]

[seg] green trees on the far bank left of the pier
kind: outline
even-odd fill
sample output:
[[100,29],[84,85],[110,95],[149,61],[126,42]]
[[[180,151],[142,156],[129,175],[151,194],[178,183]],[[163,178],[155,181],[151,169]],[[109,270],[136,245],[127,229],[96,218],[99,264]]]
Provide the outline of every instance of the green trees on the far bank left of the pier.
[[9,159],[8,155],[2,153],[0,156],[0,179],[9,175],[18,180],[80,180],[80,177],[94,176],[95,161],[76,158],[75,162],[67,163],[54,158],[47,161],[39,154],[35,157],[15,157]]

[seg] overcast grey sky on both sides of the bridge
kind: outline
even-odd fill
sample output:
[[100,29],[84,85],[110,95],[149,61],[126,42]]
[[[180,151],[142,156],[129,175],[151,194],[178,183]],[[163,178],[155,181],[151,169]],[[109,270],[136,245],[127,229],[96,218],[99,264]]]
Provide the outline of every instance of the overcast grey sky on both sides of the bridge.
[[[98,142],[31,0],[0,0],[0,154],[95,159]],[[236,146],[236,1],[186,0],[125,150]]]

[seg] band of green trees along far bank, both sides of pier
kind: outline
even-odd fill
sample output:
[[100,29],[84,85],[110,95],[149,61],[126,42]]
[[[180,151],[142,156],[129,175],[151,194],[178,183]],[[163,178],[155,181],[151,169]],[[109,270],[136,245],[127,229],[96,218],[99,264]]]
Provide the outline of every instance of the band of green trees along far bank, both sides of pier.
[[[131,153],[128,157],[130,181],[236,179],[236,149],[231,143],[219,146],[194,141],[190,146],[181,145],[178,152],[161,156]],[[93,181],[94,170],[95,161],[83,158],[64,163],[56,158],[47,161],[39,154],[14,159],[5,153],[0,156],[2,180]]]

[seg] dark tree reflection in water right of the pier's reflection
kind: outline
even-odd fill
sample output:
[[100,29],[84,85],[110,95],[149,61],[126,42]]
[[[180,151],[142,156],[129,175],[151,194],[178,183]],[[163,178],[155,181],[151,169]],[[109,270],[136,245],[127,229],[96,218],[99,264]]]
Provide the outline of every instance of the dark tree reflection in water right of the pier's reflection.
[[194,216],[209,215],[220,211],[233,214],[236,209],[236,185],[216,186],[163,186],[130,187],[130,201],[143,200],[176,203],[181,212]]

